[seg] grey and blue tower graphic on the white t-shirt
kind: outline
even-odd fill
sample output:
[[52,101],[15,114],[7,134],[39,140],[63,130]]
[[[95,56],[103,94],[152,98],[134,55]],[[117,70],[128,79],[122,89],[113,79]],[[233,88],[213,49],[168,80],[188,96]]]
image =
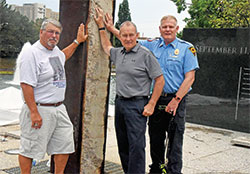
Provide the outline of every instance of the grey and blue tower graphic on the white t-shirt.
[[59,60],[59,57],[50,57],[49,62],[54,71],[53,85],[55,85],[58,88],[65,88],[66,86],[65,73],[63,66]]

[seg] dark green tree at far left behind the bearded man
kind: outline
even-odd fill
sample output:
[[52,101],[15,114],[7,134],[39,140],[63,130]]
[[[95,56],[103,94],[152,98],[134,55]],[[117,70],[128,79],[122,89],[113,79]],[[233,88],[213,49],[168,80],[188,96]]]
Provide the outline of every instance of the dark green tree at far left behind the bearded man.
[[36,41],[39,30],[34,25],[3,0],[0,3],[0,57],[16,58],[24,43]]

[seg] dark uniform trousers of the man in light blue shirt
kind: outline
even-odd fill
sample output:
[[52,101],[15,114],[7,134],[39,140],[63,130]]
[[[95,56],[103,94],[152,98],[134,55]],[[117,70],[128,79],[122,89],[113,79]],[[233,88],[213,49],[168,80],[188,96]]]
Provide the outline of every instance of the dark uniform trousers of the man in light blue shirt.
[[[181,174],[182,147],[185,130],[186,97],[182,99],[177,108],[172,124],[172,114],[165,112],[165,107],[172,97],[160,97],[156,104],[155,112],[149,117],[150,155],[152,168],[159,168],[159,164],[165,163],[166,133],[168,141],[168,170],[173,174]],[[170,126],[171,125],[171,126]],[[170,126],[170,127],[169,127]]]

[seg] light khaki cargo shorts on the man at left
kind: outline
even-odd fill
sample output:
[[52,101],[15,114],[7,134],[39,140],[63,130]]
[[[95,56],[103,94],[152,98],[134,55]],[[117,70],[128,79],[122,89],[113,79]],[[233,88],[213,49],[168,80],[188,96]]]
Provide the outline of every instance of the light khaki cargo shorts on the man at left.
[[20,152],[28,158],[43,159],[45,153],[70,154],[75,151],[73,125],[63,104],[37,106],[42,117],[42,127],[31,127],[30,111],[26,104],[20,113]]

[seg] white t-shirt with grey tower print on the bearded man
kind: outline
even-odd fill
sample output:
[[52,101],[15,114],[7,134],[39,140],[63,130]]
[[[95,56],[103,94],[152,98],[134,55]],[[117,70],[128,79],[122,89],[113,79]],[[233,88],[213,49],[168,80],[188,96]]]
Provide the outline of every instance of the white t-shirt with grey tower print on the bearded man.
[[20,58],[20,82],[34,87],[36,103],[64,100],[66,76],[65,55],[56,46],[45,48],[38,40]]

